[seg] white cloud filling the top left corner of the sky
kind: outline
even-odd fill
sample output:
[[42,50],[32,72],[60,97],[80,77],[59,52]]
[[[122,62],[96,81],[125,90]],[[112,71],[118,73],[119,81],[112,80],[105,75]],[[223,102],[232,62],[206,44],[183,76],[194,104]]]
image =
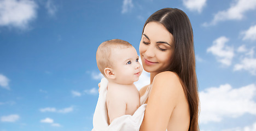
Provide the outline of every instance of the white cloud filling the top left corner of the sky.
[[31,0],[0,1],[0,26],[26,29],[28,23],[36,18],[37,4]]

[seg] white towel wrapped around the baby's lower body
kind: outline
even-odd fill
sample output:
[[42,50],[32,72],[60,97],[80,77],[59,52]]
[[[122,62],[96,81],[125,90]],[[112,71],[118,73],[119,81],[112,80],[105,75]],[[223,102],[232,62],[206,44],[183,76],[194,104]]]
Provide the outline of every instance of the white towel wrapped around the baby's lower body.
[[98,102],[94,112],[92,131],[133,131],[139,130],[144,117],[144,111],[147,104],[141,105],[135,113],[131,115],[123,115],[115,118],[110,125],[108,125],[106,96],[107,96],[108,80],[101,79],[101,88],[98,95]]

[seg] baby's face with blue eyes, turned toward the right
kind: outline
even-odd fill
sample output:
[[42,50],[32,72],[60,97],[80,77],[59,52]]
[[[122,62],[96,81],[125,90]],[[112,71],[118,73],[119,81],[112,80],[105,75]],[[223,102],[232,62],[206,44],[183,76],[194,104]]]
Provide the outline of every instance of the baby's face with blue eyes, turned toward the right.
[[113,73],[119,84],[132,84],[138,81],[142,73],[141,64],[138,62],[137,51],[134,47],[112,50]]

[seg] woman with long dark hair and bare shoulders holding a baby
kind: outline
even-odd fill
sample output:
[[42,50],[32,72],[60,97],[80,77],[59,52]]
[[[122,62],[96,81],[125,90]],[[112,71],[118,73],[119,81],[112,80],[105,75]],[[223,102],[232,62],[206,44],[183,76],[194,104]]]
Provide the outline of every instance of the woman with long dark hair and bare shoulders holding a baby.
[[144,24],[139,53],[144,70],[150,73],[150,85],[139,91],[142,104],[148,104],[140,130],[199,130],[193,30],[188,16],[173,8],[152,14]]

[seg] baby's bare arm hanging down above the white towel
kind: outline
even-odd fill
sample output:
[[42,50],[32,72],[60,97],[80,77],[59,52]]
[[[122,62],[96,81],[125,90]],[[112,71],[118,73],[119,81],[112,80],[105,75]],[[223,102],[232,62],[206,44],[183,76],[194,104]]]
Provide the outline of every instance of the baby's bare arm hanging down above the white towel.
[[124,96],[119,92],[108,92],[107,97],[107,109],[109,123],[111,123],[114,118],[125,115],[126,112],[126,102]]

